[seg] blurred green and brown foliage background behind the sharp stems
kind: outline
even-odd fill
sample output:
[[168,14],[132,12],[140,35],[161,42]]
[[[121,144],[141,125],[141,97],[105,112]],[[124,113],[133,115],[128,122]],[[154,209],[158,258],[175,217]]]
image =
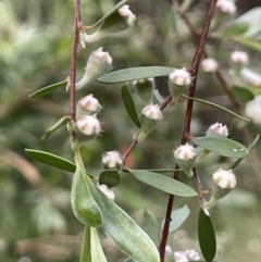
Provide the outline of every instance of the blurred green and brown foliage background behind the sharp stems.
[[[115,1],[116,2],[116,1]],[[112,0],[83,0],[83,23],[98,21],[115,3]],[[209,1],[194,1],[187,11],[196,28],[200,28]],[[259,1],[238,1],[237,14],[260,4]],[[169,1],[130,1],[137,22],[129,30],[79,48],[77,79],[84,73],[89,54],[103,47],[113,57],[114,70],[164,65],[189,67],[196,46],[190,33],[172,10]],[[251,4],[251,5],[250,5]],[[83,225],[74,217],[70,203],[72,175],[39,164],[25,154],[24,149],[38,149],[73,160],[66,128],[54,133],[47,141],[41,136],[47,127],[69,113],[69,93],[63,88],[41,99],[28,99],[29,93],[47,85],[63,80],[69,74],[74,28],[73,0],[2,0],[0,1],[0,261],[49,262],[78,261]],[[210,39],[210,54],[224,68],[229,82],[229,53],[247,51],[251,65],[260,66],[261,55],[229,40]],[[157,79],[162,96],[167,96],[167,79]],[[121,100],[120,86],[94,83],[77,93],[94,93],[103,107],[99,118],[104,133],[82,150],[86,169],[96,174],[101,170],[101,154],[108,150],[124,152],[132,142],[136,127],[129,121]],[[197,97],[231,108],[221,84],[214,75],[199,71]],[[137,108],[141,102],[137,100]],[[244,104],[241,112],[244,114]],[[173,149],[179,145],[185,101],[170,107],[164,120],[130,154],[127,164],[137,169],[173,169]],[[195,104],[191,132],[202,136],[208,126],[222,122],[229,127],[229,137],[246,145],[245,129],[253,140],[260,126],[246,124],[224,112]],[[246,145],[248,146],[248,145]],[[217,236],[216,260],[261,261],[261,171],[260,142],[254,158],[247,158],[235,170],[238,186],[211,212]],[[199,164],[198,173],[206,188],[211,174],[226,169],[231,160],[210,155]],[[171,174],[170,174],[171,175]],[[196,187],[185,175],[181,179]],[[159,224],[164,219],[167,195],[123,175],[115,188],[116,203],[138,222],[142,209],[149,209]],[[169,244],[174,250],[196,249],[196,198],[176,198],[175,207],[188,204],[190,215],[172,233]],[[102,234],[102,245],[109,261],[123,261],[121,253]]]

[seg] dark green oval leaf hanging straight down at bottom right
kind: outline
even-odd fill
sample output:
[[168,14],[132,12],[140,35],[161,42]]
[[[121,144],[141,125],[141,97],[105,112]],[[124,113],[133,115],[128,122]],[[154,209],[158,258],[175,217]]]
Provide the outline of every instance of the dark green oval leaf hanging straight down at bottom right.
[[215,232],[211,217],[206,215],[202,209],[199,212],[198,238],[206,261],[212,262],[216,251]]

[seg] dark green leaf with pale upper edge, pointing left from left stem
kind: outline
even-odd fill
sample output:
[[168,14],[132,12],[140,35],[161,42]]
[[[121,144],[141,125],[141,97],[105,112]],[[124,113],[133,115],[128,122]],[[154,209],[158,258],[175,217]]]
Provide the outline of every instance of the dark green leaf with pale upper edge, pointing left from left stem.
[[75,164],[66,159],[63,159],[59,155],[48,153],[45,151],[38,151],[33,149],[25,149],[26,154],[28,154],[34,160],[37,160],[38,162],[41,162],[44,164],[69,171],[69,172],[75,172]]

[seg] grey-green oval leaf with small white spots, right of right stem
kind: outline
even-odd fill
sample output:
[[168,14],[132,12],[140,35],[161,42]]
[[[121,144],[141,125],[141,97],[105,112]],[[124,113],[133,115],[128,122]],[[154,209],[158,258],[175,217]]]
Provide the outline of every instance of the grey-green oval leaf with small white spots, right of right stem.
[[243,159],[249,151],[241,144],[222,136],[194,137],[191,142],[222,157]]

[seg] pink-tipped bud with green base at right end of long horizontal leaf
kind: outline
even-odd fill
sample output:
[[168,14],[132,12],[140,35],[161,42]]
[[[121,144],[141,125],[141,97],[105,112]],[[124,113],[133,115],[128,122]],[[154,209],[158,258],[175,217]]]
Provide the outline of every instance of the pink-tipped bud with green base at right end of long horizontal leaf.
[[190,86],[191,76],[185,67],[182,70],[174,68],[169,75],[169,89],[172,95],[172,102],[175,104],[183,92]]

